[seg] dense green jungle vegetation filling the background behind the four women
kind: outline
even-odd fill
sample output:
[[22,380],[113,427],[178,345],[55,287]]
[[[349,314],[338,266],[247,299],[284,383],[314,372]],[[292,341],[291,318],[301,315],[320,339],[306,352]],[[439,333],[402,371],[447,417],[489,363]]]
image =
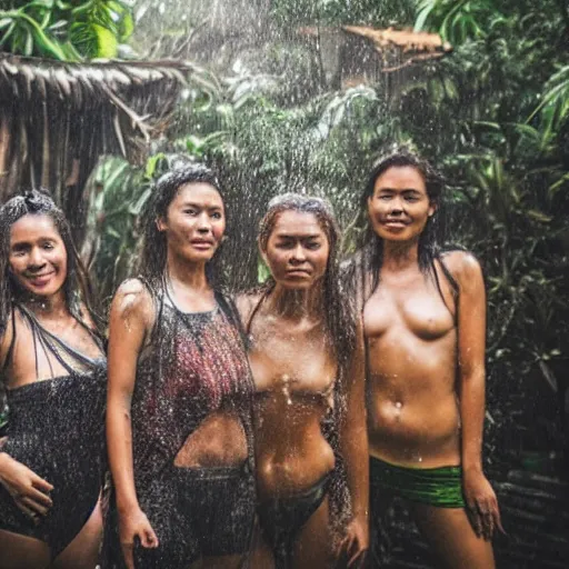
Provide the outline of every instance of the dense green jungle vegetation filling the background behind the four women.
[[[93,193],[91,208],[91,234],[100,236],[92,268],[106,293],[132,269],[137,217],[153,177],[168,168],[174,153],[203,159],[222,171],[233,222],[239,224],[236,250],[252,242],[254,221],[272,194],[306,188],[332,199],[349,252],[359,229],[357,202],[371,161],[393,144],[410,144],[445,172],[452,240],[473,250],[485,266],[489,445],[499,445],[501,456],[506,448],[516,452],[521,447],[558,446],[553,388],[561,391],[566,381],[569,335],[566,2],[238,3],[254,13],[250,30],[262,33],[239,36],[239,18],[246,10],[222,0],[211,6],[200,0],[138,0],[134,4],[132,46],[139,53],[189,58],[200,53],[209,71],[190,79],[176,120],[146,168],[112,159],[93,176],[93,187],[101,191]],[[119,9],[121,2],[36,0],[0,11],[0,46],[46,54],[37,47],[41,42],[34,41],[41,36],[26,19],[33,17],[46,33],[52,30],[50,37],[59,44],[73,44],[81,56],[92,54],[73,43],[72,30],[86,20],[70,4],[104,6],[120,16],[109,27],[117,42],[130,32],[130,16]],[[121,21],[122,27],[117,23]],[[340,91],[327,82],[321,53],[295,33],[313,23],[416,27],[440,33],[453,52],[405,76],[410,79],[397,89],[380,79],[377,84]],[[100,24],[100,18],[86,23]],[[20,36],[13,36],[16,31]],[[203,49],[203,38],[216,43]],[[228,57],[231,50],[233,56]],[[240,258],[236,274],[239,284],[256,279],[253,253]],[[491,429],[493,423],[501,428]]]

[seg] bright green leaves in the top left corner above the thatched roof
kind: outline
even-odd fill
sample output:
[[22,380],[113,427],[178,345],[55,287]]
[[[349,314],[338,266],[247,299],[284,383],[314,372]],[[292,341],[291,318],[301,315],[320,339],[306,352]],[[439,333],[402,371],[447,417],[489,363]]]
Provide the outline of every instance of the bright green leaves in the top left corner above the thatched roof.
[[60,61],[113,58],[132,29],[123,0],[12,1],[0,10],[0,50]]

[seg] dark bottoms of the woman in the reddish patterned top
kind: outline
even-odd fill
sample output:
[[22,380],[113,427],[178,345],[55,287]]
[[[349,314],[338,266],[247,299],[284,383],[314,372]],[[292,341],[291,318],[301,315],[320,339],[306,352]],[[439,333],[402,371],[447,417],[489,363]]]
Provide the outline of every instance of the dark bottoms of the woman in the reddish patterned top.
[[[114,501],[114,500],[113,500]],[[134,546],[136,569],[188,569],[203,557],[246,555],[254,525],[256,485],[248,467],[170,467],[140,499],[159,546]],[[114,505],[111,505],[114,510]],[[124,567],[117,512],[110,512],[104,568]]]

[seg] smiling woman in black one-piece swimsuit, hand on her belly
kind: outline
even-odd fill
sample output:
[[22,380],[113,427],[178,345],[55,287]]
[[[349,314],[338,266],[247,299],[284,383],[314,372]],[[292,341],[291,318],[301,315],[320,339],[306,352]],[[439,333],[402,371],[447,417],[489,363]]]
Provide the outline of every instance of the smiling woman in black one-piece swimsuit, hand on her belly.
[[62,211],[0,209],[0,568],[92,569],[102,537],[106,359]]

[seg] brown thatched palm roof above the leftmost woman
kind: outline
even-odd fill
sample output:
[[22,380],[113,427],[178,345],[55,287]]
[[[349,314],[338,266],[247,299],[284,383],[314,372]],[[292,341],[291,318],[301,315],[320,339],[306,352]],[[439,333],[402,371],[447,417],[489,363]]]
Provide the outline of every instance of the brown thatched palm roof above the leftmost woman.
[[68,214],[81,210],[99,157],[142,158],[190,70],[177,61],[79,64],[0,53],[0,200],[42,186]]

